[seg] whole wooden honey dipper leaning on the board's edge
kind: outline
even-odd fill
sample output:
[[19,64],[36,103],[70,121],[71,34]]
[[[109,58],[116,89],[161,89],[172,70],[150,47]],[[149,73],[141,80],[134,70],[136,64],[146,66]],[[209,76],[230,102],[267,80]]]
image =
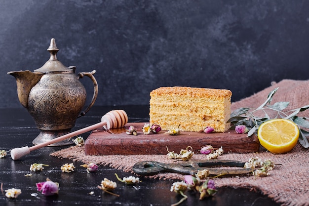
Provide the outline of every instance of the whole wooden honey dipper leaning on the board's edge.
[[65,134],[63,136],[57,137],[55,139],[52,139],[47,142],[40,143],[38,145],[32,146],[32,147],[21,147],[21,148],[15,148],[11,150],[11,157],[13,160],[18,160],[21,157],[24,157],[25,155],[30,154],[30,152],[37,150],[42,147],[46,147],[50,144],[54,144],[56,142],[63,141],[65,139],[77,136],[79,134],[85,133],[87,131],[96,129],[100,126],[103,126],[106,130],[109,130],[110,128],[119,128],[127,124],[128,122],[128,116],[123,110],[112,110],[108,113],[106,113],[102,118],[101,122],[97,124],[93,124],[91,126],[87,126],[85,128],[76,130],[74,132]]

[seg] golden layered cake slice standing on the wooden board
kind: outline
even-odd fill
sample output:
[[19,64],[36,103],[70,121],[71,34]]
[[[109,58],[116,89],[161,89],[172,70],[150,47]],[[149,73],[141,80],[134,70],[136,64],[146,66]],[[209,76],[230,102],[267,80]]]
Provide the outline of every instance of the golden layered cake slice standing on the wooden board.
[[159,124],[163,130],[179,125],[183,131],[200,131],[210,126],[216,132],[224,132],[230,128],[230,90],[160,87],[150,96],[150,123]]

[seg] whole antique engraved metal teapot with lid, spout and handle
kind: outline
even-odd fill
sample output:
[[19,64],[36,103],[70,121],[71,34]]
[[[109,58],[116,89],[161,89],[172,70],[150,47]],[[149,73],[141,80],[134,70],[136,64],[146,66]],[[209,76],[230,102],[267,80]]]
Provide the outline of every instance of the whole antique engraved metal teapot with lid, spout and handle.
[[[77,118],[89,111],[98,95],[98,84],[93,76],[95,70],[76,75],[75,66],[65,67],[57,59],[59,49],[55,39],[51,39],[47,50],[50,52],[50,58],[41,68],[34,72],[26,70],[7,73],[15,77],[18,99],[40,129],[33,144],[40,144],[69,133]],[[88,107],[81,112],[86,102],[86,90],[79,78],[84,76],[92,80],[94,93]],[[72,140],[64,140],[49,146],[72,143]]]

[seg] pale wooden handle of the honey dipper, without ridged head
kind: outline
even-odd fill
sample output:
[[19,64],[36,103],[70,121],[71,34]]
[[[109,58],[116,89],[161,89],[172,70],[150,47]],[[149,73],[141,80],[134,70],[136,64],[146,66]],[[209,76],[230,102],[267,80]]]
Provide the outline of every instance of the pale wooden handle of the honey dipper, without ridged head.
[[106,122],[100,122],[100,123],[97,123],[97,124],[93,124],[93,125],[90,125],[90,126],[87,126],[85,128],[82,128],[82,129],[79,129],[79,130],[76,130],[74,132],[71,132],[69,134],[65,134],[63,136],[60,136],[60,137],[57,137],[55,139],[52,139],[50,141],[47,141],[47,142],[43,142],[43,143],[40,143],[38,145],[35,145],[35,146],[32,146],[32,147],[21,147],[21,148],[15,148],[15,149],[12,149],[10,154],[11,154],[11,157],[13,160],[18,160],[20,159],[21,157],[25,156],[25,155],[28,155],[30,152],[34,151],[34,150],[37,150],[39,148],[42,148],[42,147],[46,147],[50,144],[53,144],[53,143],[56,143],[56,142],[60,142],[62,140],[65,140],[65,139],[68,139],[68,138],[71,138],[71,137],[74,137],[74,136],[77,136],[79,134],[82,134],[82,133],[85,133],[87,131],[90,131],[90,130],[93,130],[93,129],[96,129],[100,126],[104,126],[106,125],[107,123]]

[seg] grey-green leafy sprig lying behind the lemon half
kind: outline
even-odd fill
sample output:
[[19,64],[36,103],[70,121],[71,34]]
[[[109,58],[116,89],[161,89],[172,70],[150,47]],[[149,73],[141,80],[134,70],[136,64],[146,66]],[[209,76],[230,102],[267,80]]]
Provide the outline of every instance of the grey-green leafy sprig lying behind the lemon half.
[[[309,118],[297,116],[299,112],[303,112],[309,109],[309,105],[283,112],[283,110],[288,107],[289,102],[275,102],[274,104],[270,104],[272,101],[272,97],[276,93],[278,88],[279,87],[273,89],[269,93],[266,101],[258,108],[239,108],[232,112],[231,118],[228,120],[228,123],[231,123],[232,127],[244,124],[249,129],[247,136],[251,136],[254,133],[257,134],[257,130],[259,129],[259,126],[261,124],[271,120],[270,115],[267,112],[270,110],[272,112],[276,112],[276,115],[272,119],[282,118],[291,120],[295,124],[297,124],[300,130],[299,142],[304,148],[309,148],[309,142],[307,140],[309,132],[305,130],[309,129]],[[256,112],[259,111],[264,112],[264,117],[257,117],[254,115]]]

